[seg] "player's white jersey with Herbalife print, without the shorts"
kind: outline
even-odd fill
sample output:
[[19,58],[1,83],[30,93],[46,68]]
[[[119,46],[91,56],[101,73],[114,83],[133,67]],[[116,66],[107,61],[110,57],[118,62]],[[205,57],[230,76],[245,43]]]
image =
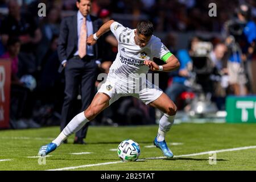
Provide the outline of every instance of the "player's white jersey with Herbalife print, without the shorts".
[[[134,41],[134,30],[123,27],[122,24],[114,22],[110,30],[118,40],[118,53],[109,73],[119,76],[131,76],[134,73],[147,73],[148,66],[143,65],[144,60],[153,60],[153,57],[161,58],[170,52],[159,38],[152,35],[145,47],[139,47]],[[120,74],[121,73],[121,74]],[[136,76],[135,76],[136,77]],[[127,79],[126,79],[127,80]]]

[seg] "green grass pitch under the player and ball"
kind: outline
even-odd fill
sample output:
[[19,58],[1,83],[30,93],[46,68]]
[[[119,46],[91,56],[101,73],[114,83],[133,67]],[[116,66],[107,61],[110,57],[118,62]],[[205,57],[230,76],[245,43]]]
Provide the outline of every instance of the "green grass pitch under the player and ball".
[[[157,130],[158,125],[91,126],[86,138],[88,144],[72,144],[72,135],[69,137],[69,143],[61,144],[59,148],[49,154],[51,156],[46,158],[46,164],[42,165],[38,163],[38,158],[27,157],[36,156],[40,146],[51,142],[59,134],[59,127],[1,130],[0,170],[48,170],[66,167],[75,167],[69,168],[72,170],[92,171],[256,170],[255,124],[182,123],[174,125],[166,137],[168,146],[177,156],[173,159],[158,159],[163,156],[162,152],[159,148],[152,146]],[[139,159],[144,160],[120,162],[117,151],[112,149],[116,149],[118,144],[125,139],[133,139],[140,145]],[[247,146],[254,147],[245,150],[239,149],[239,147]],[[209,164],[209,154],[198,154],[231,148],[238,149],[216,153],[216,164]],[[80,152],[90,152],[90,154],[72,154]]]

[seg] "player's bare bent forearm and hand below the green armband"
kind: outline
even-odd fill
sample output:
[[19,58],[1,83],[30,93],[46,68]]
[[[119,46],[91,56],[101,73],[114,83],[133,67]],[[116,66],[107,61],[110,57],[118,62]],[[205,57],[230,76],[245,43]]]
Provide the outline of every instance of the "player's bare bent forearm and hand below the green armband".
[[151,71],[171,72],[180,67],[180,62],[174,55],[172,55],[167,59],[166,64],[162,65],[163,70],[160,69],[161,66],[151,60],[144,60],[144,65],[147,65]]

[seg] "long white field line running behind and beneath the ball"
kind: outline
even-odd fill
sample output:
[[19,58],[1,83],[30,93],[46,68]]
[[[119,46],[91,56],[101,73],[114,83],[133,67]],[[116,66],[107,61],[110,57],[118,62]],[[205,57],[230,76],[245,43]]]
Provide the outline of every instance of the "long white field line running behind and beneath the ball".
[[[207,152],[200,152],[200,153],[195,153],[195,154],[177,155],[177,156],[174,156],[174,158],[185,157],[185,156],[196,156],[196,155],[212,154],[213,152],[215,152],[215,153],[220,153],[220,152],[230,152],[230,151],[238,151],[238,150],[247,150],[247,149],[251,149],[251,148],[256,148],[256,146],[247,146],[247,147],[238,147],[238,148],[228,148],[228,149],[223,149],[223,150],[207,151]],[[166,159],[166,157],[145,158],[145,159]],[[140,160],[144,160],[144,159],[140,159]],[[116,162],[108,162],[108,163],[86,164],[86,165],[82,165],[82,166],[64,167],[64,168],[58,168],[58,169],[48,169],[47,171],[63,171],[63,170],[70,170],[70,169],[77,169],[77,168],[85,168],[85,167],[93,167],[93,166],[103,166],[103,165],[117,164],[117,163],[123,163],[123,162],[122,162],[122,161],[116,161]]]

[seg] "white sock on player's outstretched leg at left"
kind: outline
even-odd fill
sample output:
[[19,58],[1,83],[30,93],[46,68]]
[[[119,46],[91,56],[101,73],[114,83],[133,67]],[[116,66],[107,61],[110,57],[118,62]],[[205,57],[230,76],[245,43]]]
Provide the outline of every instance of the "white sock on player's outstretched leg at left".
[[82,111],[81,113],[77,114],[71,120],[71,122],[68,123],[68,125],[63,129],[63,131],[61,131],[59,136],[52,141],[52,143],[56,143],[57,147],[59,147],[61,142],[63,142],[73,133],[79,131],[87,122],[89,122],[89,120],[85,117],[84,111]]

